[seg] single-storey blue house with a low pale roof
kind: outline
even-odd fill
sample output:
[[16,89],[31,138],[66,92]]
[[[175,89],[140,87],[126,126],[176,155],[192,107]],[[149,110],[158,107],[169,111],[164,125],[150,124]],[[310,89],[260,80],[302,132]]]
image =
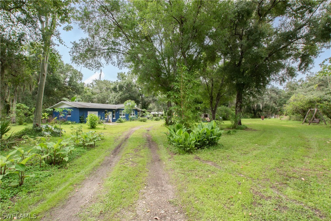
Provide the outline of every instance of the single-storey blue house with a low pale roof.
[[[124,113],[124,104],[98,104],[98,103],[85,103],[85,102],[69,102],[60,101],[59,103],[50,107],[53,109],[53,118],[57,117],[59,119],[59,113],[55,112],[55,108],[67,108],[68,111],[64,111],[64,116],[61,119],[67,119],[68,121],[79,122],[79,117],[84,116],[85,119],[87,115],[94,114],[100,116],[102,120],[108,122],[115,122],[118,118],[129,119],[129,116],[140,116],[142,114],[142,109],[135,107],[132,109],[131,114]],[[86,120],[85,120],[86,122]]]

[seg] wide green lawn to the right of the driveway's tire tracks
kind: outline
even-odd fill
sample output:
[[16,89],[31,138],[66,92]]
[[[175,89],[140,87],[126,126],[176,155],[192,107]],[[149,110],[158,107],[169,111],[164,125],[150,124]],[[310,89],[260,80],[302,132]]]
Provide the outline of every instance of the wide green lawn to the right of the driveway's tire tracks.
[[185,155],[167,151],[165,127],[151,131],[177,186],[174,203],[192,220],[331,219],[330,126],[242,121],[249,130]]

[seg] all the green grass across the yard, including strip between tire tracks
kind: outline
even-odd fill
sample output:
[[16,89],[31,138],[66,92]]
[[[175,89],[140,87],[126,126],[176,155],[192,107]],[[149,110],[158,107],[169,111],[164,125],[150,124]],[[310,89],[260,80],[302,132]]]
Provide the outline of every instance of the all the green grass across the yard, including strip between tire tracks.
[[[189,220],[331,219],[331,127],[278,119],[243,119],[249,129],[225,130],[219,145],[193,154],[174,154],[163,122],[125,122],[97,128],[105,134],[95,148],[77,148],[69,167],[31,167],[36,177],[11,188],[1,186],[1,213],[36,213],[38,218],[66,202],[72,191],[100,165],[129,128],[153,126],[150,134],[177,190],[171,203]],[[223,127],[228,127],[225,122]],[[75,125],[73,125],[75,126]],[[22,129],[15,126],[13,130]],[[63,125],[70,133],[70,125]],[[86,125],[84,131],[88,131]],[[119,163],[105,180],[82,220],[119,220],[134,208],[150,160],[144,128],[128,139]],[[24,144],[25,149],[31,145]],[[1,151],[5,155],[6,151]],[[124,191],[123,191],[124,190]],[[100,215],[100,211],[107,211]],[[126,214],[127,216],[127,214]]]

